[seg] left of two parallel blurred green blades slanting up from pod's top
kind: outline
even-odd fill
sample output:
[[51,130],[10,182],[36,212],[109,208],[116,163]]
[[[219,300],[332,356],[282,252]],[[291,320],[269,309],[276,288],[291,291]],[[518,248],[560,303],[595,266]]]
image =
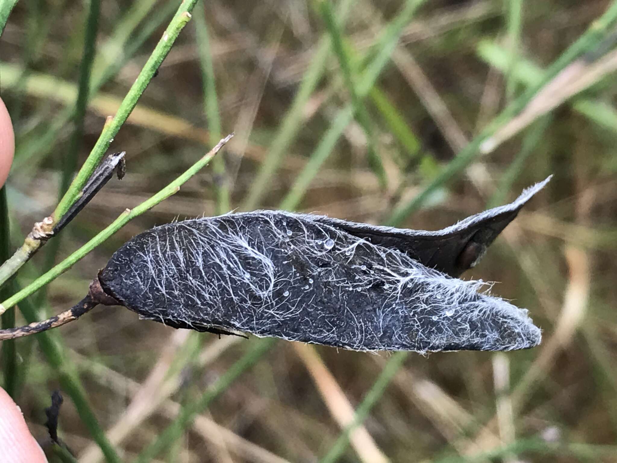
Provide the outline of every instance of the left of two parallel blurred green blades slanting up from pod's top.
[[[349,9],[353,4],[354,0],[343,0],[341,2],[337,18],[339,22],[345,22]],[[244,204],[242,204],[242,209],[245,211],[257,207],[263,198],[263,194],[267,191],[268,184],[275,174],[276,169],[278,169],[281,161],[283,161],[289,144],[291,144],[302,127],[300,123],[302,121],[302,111],[304,111],[307,101],[309,101],[311,94],[323,76],[329,53],[330,41],[324,34],[317,44],[317,52],[315,52],[313,56],[309,70],[307,70],[307,72],[304,73],[304,77],[302,77],[302,82],[300,83],[296,97],[289,111],[286,112],[283,117],[283,122],[281,122],[279,130],[276,132],[275,138],[268,150],[268,154],[262,165],[260,165],[257,175],[255,175],[255,178],[251,182]]]

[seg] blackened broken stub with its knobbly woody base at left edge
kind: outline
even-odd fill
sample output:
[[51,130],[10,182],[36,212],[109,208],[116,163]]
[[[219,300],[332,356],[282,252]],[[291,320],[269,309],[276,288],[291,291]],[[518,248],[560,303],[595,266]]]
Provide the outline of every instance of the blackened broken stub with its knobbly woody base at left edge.
[[[83,209],[88,202],[94,198],[94,195],[110,178],[114,172],[117,172],[118,178],[122,178],[125,173],[125,152],[115,152],[107,158],[94,170],[94,173],[89,178],[88,183],[81,190],[77,201],[68,209],[59,220],[56,220],[53,215],[45,217],[41,222],[36,222],[26,239],[23,240],[22,246],[15,251],[15,254],[9,260],[0,265],[0,285],[6,282],[23,264],[28,262],[32,256],[43,246],[49,238],[56,235],[68,222],[73,220],[75,216]],[[1,312],[0,312],[1,313]]]

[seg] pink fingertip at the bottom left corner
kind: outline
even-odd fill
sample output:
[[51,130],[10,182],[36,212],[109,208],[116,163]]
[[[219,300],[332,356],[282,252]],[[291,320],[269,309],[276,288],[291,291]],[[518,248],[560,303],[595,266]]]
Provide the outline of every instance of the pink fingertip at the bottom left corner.
[[43,450],[30,434],[22,411],[0,388],[0,460],[6,463],[46,463]]

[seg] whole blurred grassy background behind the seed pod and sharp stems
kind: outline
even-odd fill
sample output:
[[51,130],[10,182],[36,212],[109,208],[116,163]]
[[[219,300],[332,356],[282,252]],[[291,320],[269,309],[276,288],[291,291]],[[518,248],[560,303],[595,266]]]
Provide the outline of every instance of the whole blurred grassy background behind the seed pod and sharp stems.
[[[54,211],[178,6],[17,3],[0,41],[17,149],[11,251]],[[35,435],[46,440],[43,410],[59,388],[59,434],[80,462],[617,461],[615,9],[198,2],[109,136],[110,150],[127,153],[126,177],[0,301],[236,136],[178,194],[9,309],[4,326],[13,312],[21,325],[21,313],[72,306],[115,249],[160,223],[284,207],[437,229],[554,174],[464,275],[499,282],[494,293],[528,307],[544,341],[508,354],[371,355],[218,339],[104,307],[2,344],[2,385]],[[44,446],[51,461],[70,461]]]

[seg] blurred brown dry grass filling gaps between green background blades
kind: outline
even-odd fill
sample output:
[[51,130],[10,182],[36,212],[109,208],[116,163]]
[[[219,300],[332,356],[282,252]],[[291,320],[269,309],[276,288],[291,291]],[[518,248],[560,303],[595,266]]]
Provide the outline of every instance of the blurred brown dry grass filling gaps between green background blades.
[[[345,28],[355,51],[370,52],[384,21],[401,4],[357,2]],[[549,64],[607,4],[523,2],[521,61]],[[164,15],[164,6],[154,2],[146,20]],[[507,45],[506,9],[507,3],[491,0],[438,0],[423,6],[378,80],[379,90],[418,139],[417,156],[408,155],[367,99],[387,188],[380,188],[371,171],[365,134],[354,122],[310,184],[300,209],[380,223],[399,201],[433,178],[439,163],[452,159],[505,104],[509,74],[487,65],[477,47],[482,40]],[[125,12],[124,2],[102,4],[98,51],[109,52],[117,45],[114,31],[123,24]],[[60,312],[81,298],[97,269],[139,231],[178,217],[212,215],[213,185],[220,181],[228,181],[232,207],[246,201],[325,28],[312,4],[296,0],[208,2],[205,15],[222,130],[236,131],[226,151],[228,177],[214,177],[206,169],[179,194],[131,222],[49,286],[46,311]],[[49,131],[57,114],[75,98],[84,19],[81,2],[22,0],[2,36],[0,85],[18,149],[9,179],[9,205],[22,236],[56,202],[70,124],[57,131],[47,149],[29,152],[28,147]],[[125,207],[159,190],[210,143],[194,27],[190,23],[183,31],[112,144],[112,149],[128,153],[128,175],[110,182],[63,232],[57,259]],[[162,27],[155,29],[89,103],[81,161],[161,32]],[[524,85],[524,78],[516,81],[516,92]],[[408,357],[352,437],[342,461],[428,462],[455,456],[461,461],[617,462],[617,453],[612,453],[617,446],[605,447],[617,440],[617,127],[611,130],[576,107],[581,99],[613,107],[616,93],[609,75],[566,104],[561,103],[569,94],[561,100],[552,96],[557,99],[549,106],[557,107],[516,170],[507,197],[550,173],[555,177],[484,261],[464,275],[499,282],[495,293],[528,307],[544,330],[542,346],[505,356],[458,352]],[[332,54],[325,76],[305,104],[296,138],[263,191],[260,207],[280,203],[337,109],[349,101]],[[433,196],[430,207],[402,225],[437,229],[483,209],[495,192],[503,193],[499,180],[520,156],[534,127],[479,157],[465,175]],[[17,245],[22,236],[14,236]],[[38,275],[44,254],[45,249],[23,270],[25,280]],[[61,335],[97,417],[114,430],[112,441],[127,460],[160,433],[178,404],[195,398],[257,342],[176,332],[116,308],[98,309],[61,328]],[[18,349],[23,361],[18,403],[42,438],[42,411],[57,387],[56,373],[31,340],[19,343]],[[159,456],[160,461],[317,461],[336,441],[387,359],[276,343],[199,416],[183,440]],[[61,435],[80,461],[101,461],[70,401],[65,402],[60,424]],[[549,449],[539,450],[534,439],[548,442]],[[502,444],[512,444],[510,451],[491,457]]]

